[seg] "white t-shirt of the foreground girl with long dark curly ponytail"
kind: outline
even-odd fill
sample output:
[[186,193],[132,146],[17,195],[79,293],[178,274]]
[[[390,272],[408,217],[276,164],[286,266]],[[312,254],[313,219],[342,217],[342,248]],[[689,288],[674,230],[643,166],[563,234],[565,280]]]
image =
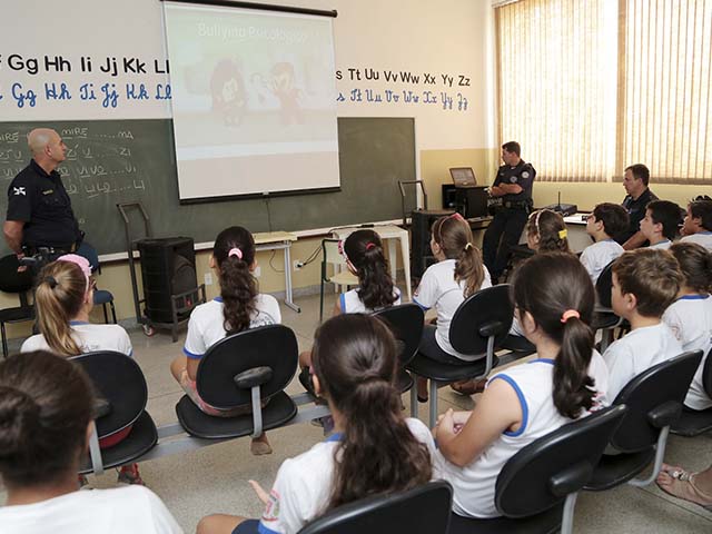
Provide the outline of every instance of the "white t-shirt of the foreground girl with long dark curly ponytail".
[[[431,431],[418,419],[405,421],[415,438],[428,448],[432,457],[435,443]],[[334,434],[306,453],[281,464],[275,485],[269,492],[269,501],[259,522],[258,532],[295,534],[324,513],[332,492],[334,452],[339,438],[338,434]]]

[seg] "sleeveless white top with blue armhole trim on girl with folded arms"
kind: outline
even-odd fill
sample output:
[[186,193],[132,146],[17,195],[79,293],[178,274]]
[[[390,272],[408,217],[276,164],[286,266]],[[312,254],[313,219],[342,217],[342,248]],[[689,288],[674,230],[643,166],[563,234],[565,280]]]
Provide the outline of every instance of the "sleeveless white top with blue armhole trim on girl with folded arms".
[[[607,370],[597,352],[592,353],[589,376],[597,392],[593,409],[603,407]],[[512,386],[522,406],[522,425],[516,432],[505,431],[486,451],[464,467],[448,462],[436,453],[434,478],[443,478],[453,486],[453,512],[464,517],[498,517],[494,504],[495,484],[504,464],[535,439],[571,423],[556,411],[552,390],[554,387],[554,360],[535,359],[510,367],[493,376]],[[587,415],[587,414],[583,414]]]

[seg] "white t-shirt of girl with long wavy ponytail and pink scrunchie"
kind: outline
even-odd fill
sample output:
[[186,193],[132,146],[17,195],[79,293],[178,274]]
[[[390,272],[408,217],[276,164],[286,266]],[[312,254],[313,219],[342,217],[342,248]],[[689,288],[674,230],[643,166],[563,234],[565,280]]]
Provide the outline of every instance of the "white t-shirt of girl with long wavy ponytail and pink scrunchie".
[[[222,307],[222,299],[216,297],[208,303],[196,306],[192,310],[188,320],[186,344],[182,348],[187,357],[191,359],[202,358],[208,348],[227,335],[224,326]],[[250,328],[281,323],[279,304],[271,295],[257,295],[255,297],[255,313],[249,323]]]

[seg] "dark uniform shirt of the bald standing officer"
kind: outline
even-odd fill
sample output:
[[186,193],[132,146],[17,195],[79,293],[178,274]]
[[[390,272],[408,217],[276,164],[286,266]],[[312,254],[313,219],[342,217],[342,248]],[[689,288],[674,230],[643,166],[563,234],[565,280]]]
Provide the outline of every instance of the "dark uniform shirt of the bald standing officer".
[[33,159],[8,189],[7,220],[24,222],[22,246],[30,254],[49,247],[57,254],[71,253],[81,241],[79,224],[59,172],[47,174]]

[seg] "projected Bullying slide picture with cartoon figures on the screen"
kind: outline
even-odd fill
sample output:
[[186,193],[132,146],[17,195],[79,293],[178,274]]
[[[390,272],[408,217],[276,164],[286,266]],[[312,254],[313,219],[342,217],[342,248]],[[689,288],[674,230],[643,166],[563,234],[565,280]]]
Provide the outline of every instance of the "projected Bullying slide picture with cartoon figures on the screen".
[[283,16],[171,16],[174,115],[181,146],[324,140],[336,107],[330,28]]

